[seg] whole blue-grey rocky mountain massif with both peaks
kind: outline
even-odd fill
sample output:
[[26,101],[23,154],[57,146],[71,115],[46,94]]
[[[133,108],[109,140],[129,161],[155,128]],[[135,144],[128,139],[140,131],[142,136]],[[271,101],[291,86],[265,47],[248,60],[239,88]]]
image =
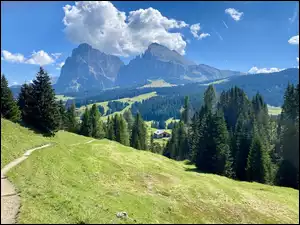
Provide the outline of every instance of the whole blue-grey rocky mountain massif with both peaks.
[[128,65],[124,65],[119,57],[107,55],[84,43],[66,59],[55,90],[60,93],[105,90],[115,86],[144,85],[150,79],[186,84],[240,75],[245,73],[196,64],[157,43],[150,44],[142,55],[135,57]]

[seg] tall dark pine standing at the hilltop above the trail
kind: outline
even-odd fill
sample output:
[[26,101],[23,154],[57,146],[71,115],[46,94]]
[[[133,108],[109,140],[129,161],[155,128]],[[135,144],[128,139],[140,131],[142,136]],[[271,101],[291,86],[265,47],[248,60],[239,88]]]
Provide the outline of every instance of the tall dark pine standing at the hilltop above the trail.
[[59,111],[55,92],[47,72],[40,67],[32,84],[34,96],[32,125],[43,133],[54,134],[59,128]]

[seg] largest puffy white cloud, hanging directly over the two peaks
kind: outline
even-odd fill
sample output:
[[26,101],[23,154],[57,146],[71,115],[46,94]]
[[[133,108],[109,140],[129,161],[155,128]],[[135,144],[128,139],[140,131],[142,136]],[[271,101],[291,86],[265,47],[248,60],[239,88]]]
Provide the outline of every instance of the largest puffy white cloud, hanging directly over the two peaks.
[[156,9],[139,9],[126,15],[111,2],[86,1],[65,5],[63,10],[64,31],[77,44],[88,43],[107,54],[125,57],[141,54],[153,42],[185,53],[183,35],[170,30],[188,24],[169,19]]

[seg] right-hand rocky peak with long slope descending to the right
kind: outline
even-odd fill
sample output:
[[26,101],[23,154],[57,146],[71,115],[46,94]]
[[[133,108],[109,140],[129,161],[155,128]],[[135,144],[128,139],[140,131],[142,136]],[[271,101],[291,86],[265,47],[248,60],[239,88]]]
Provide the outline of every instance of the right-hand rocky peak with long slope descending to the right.
[[219,70],[185,59],[176,51],[153,43],[144,54],[120,69],[116,85],[144,84],[148,79],[164,79],[174,84],[201,82],[224,77],[243,75],[240,72]]

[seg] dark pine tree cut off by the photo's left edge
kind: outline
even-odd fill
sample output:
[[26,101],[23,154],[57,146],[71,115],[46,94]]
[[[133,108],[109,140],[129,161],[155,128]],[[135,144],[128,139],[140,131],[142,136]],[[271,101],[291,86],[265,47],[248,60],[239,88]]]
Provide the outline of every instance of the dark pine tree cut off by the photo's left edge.
[[3,74],[1,75],[1,116],[13,122],[21,119],[21,112]]

